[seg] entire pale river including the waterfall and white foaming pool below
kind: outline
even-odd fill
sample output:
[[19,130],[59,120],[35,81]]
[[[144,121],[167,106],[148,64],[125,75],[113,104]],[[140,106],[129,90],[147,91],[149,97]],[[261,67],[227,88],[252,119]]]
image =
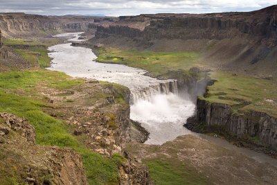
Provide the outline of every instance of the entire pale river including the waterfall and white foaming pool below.
[[[64,33],[55,37],[69,37],[69,42],[78,42],[80,34]],[[53,58],[50,70],[129,87],[132,93],[130,118],[139,121],[150,132],[146,143],[162,144],[177,136],[191,134],[183,125],[193,115],[195,105],[177,95],[175,80],[157,80],[144,76],[146,71],[142,69],[95,62],[97,57],[91,49],[71,46],[71,43],[51,46],[48,50],[51,51],[48,55]]]

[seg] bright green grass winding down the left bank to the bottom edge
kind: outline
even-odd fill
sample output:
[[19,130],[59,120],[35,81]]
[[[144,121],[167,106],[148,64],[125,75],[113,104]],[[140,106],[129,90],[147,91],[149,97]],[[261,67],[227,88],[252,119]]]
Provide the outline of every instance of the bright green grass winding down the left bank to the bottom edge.
[[[57,39],[47,42],[6,39],[5,44],[30,62],[31,66],[39,64],[44,68],[49,67],[51,62],[47,47],[57,42]],[[42,88],[69,89],[83,83],[83,80],[72,79],[65,73],[45,69],[0,73],[0,112],[10,112],[26,118],[35,127],[37,144],[68,147],[78,151],[89,184],[118,184],[118,165],[124,161],[123,157],[114,155],[109,159],[92,152],[78,137],[71,134],[71,128],[63,121],[43,112],[44,107],[52,105],[45,103],[44,97],[40,95]],[[16,175],[9,178],[12,182],[17,182]]]

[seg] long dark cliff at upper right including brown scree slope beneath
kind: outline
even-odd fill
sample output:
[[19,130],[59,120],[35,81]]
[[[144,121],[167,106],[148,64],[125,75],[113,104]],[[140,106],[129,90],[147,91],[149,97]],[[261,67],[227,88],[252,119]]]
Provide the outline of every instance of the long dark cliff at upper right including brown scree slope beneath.
[[120,17],[97,26],[93,42],[120,49],[199,51],[199,63],[213,69],[276,76],[276,20],[277,6],[253,12]]

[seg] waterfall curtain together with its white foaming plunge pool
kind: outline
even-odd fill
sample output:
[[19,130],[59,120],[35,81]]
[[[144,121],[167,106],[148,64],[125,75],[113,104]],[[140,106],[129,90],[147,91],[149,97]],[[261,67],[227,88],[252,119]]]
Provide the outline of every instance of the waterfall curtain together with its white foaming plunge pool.
[[191,100],[178,96],[176,80],[131,92],[130,118],[142,123],[147,130],[156,130],[150,132],[150,139],[146,143],[162,144],[179,135],[191,133],[182,125],[193,115],[195,105]]

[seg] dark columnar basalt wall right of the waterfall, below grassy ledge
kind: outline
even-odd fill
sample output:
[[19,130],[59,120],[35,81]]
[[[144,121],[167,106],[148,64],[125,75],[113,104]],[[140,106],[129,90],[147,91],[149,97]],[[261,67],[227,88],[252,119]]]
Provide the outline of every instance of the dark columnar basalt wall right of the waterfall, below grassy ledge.
[[230,105],[197,99],[197,122],[222,126],[232,134],[258,136],[277,149],[277,118],[274,116],[253,110],[235,115]]

